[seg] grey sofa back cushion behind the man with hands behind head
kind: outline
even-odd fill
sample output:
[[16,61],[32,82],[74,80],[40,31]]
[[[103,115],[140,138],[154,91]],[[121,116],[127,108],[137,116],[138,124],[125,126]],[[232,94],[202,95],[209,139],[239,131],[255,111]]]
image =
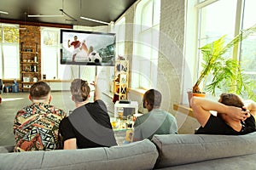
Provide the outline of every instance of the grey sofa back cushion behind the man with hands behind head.
[[152,141],[160,154],[156,168],[256,153],[256,133],[154,135]]

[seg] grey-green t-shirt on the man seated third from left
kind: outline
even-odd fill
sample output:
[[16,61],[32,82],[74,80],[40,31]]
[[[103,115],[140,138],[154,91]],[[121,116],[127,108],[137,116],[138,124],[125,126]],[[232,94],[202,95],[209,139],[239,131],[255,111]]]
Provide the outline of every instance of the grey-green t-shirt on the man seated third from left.
[[133,139],[152,139],[154,134],[177,134],[177,121],[171,113],[154,109],[134,122]]

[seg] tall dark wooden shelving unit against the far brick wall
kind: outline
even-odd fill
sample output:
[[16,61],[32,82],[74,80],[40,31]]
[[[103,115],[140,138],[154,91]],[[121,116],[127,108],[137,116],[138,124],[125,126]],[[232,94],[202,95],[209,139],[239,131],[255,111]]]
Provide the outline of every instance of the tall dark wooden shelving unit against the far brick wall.
[[21,90],[26,91],[31,88],[34,82],[41,79],[38,63],[38,43],[20,43],[20,81]]

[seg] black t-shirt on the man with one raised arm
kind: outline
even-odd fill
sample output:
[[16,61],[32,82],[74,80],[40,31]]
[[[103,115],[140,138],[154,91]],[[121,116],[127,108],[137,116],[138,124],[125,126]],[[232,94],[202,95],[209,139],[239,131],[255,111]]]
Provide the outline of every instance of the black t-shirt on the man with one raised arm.
[[62,119],[60,133],[64,141],[76,138],[79,149],[117,145],[107,107],[101,99],[75,109]]

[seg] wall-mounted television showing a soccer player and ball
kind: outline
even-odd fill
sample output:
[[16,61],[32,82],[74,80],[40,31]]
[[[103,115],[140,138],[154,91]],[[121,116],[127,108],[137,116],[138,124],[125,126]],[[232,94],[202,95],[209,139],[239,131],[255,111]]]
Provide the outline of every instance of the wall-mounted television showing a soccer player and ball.
[[61,65],[113,66],[115,34],[61,30]]

